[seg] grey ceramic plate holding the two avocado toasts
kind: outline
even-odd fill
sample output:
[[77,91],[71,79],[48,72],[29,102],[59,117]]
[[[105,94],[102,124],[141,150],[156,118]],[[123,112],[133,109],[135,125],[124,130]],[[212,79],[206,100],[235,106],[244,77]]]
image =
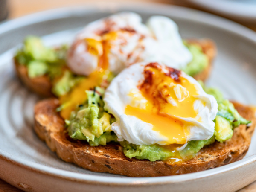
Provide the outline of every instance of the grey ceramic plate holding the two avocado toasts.
[[58,159],[38,139],[33,126],[37,96],[17,80],[12,56],[26,35],[40,35],[48,45],[70,42],[87,23],[115,12],[133,11],[145,21],[165,15],[183,38],[211,38],[218,47],[208,82],[228,99],[256,105],[256,34],[236,23],[192,9],[159,4],[99,3],[40,12],[0,25],[0,177],[31,192],[231,192],[256,180],[256,138],[246,158],[203,172],[131,178],[90,172]]

